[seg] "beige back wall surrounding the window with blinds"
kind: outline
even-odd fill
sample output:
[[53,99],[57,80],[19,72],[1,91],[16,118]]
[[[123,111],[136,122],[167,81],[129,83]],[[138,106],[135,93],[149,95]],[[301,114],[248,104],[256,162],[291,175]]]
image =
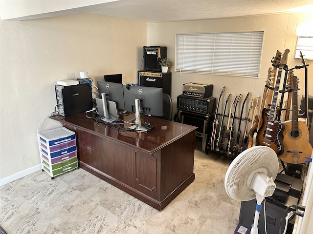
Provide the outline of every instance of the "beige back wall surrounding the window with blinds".
[[[313,15],[306,13],[277,14],[266,16],[236,17],[216,20],[195,20],[182,22],[148,23],[148,45],[167,46],[168,59],[175,63],[176,34],[180,33],[204,33],[204,32],[240,32],[250,30],[264,30],[264,43],[261,59],[260,78],[243,78],[221,75],[189,74],[172,72],[172,97],[176,106],[176,96],[182,93],[182,84],[187,82],[199,82],[213,84],[213,97],[220,96],[223,86],[226,86],[224,98],[228,94],[243,94],[251,92],[253,97],[262,97],[265,81],[268,76],[268,68],[271,66],[271,58],[276,50],[284,52],[289,48],[289,68],[301,65],[300,59],[294,59],[295,45],[298,33],[303,36],[313,35]],[[304,27],[305,26],[305,27]],[[308,35],[309,34],[309,35]],[[313,61],[308,61],[309,75],[313,76]],[[227,66],[227,64],[225,64]],[[284,73],[283,73],[284,75]],[[300,78],[300,87],[304,87],[304,69],[295,71]],[[282,84],[282,82],[281,82]],[[313,95],[313,82],[309,82],[310,95]],[[300,95],[304,92],[301,90]],[[286,97],[286,96],[285,96]],[[220,113],[222,107],[220,106]],[[237,112],[238,113],[238,112]]]

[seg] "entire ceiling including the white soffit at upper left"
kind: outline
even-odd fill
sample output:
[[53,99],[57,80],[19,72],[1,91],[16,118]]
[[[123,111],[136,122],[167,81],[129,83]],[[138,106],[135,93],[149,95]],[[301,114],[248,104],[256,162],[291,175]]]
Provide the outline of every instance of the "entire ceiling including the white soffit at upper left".
[[94,13],[146,22],[313,12],[313,0],[0,0],[1,19]]

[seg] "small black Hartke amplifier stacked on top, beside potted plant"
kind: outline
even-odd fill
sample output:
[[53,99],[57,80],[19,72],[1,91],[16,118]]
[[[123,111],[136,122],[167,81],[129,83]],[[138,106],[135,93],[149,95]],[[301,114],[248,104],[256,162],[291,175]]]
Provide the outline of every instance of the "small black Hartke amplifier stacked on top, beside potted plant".
[[161,66],[158,64],[160,59],[166,58],[166,46],[144,46],[143,47],[143,70],[160,72]]

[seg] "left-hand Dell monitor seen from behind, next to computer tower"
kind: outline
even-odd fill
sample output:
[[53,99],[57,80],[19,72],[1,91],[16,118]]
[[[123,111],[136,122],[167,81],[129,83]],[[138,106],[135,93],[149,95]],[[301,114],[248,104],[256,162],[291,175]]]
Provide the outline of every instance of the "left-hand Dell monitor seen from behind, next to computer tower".
[[124,110],[123,84],[98,80],[99,98],[105,93],[107,100],[115,101],[118,109]]

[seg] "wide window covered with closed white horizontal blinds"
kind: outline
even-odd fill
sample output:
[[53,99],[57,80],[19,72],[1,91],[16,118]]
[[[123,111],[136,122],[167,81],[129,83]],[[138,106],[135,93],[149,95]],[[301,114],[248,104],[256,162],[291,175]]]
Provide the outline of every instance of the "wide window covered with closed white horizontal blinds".
[[263,34],[178,34],[176,71],[258,77]]

